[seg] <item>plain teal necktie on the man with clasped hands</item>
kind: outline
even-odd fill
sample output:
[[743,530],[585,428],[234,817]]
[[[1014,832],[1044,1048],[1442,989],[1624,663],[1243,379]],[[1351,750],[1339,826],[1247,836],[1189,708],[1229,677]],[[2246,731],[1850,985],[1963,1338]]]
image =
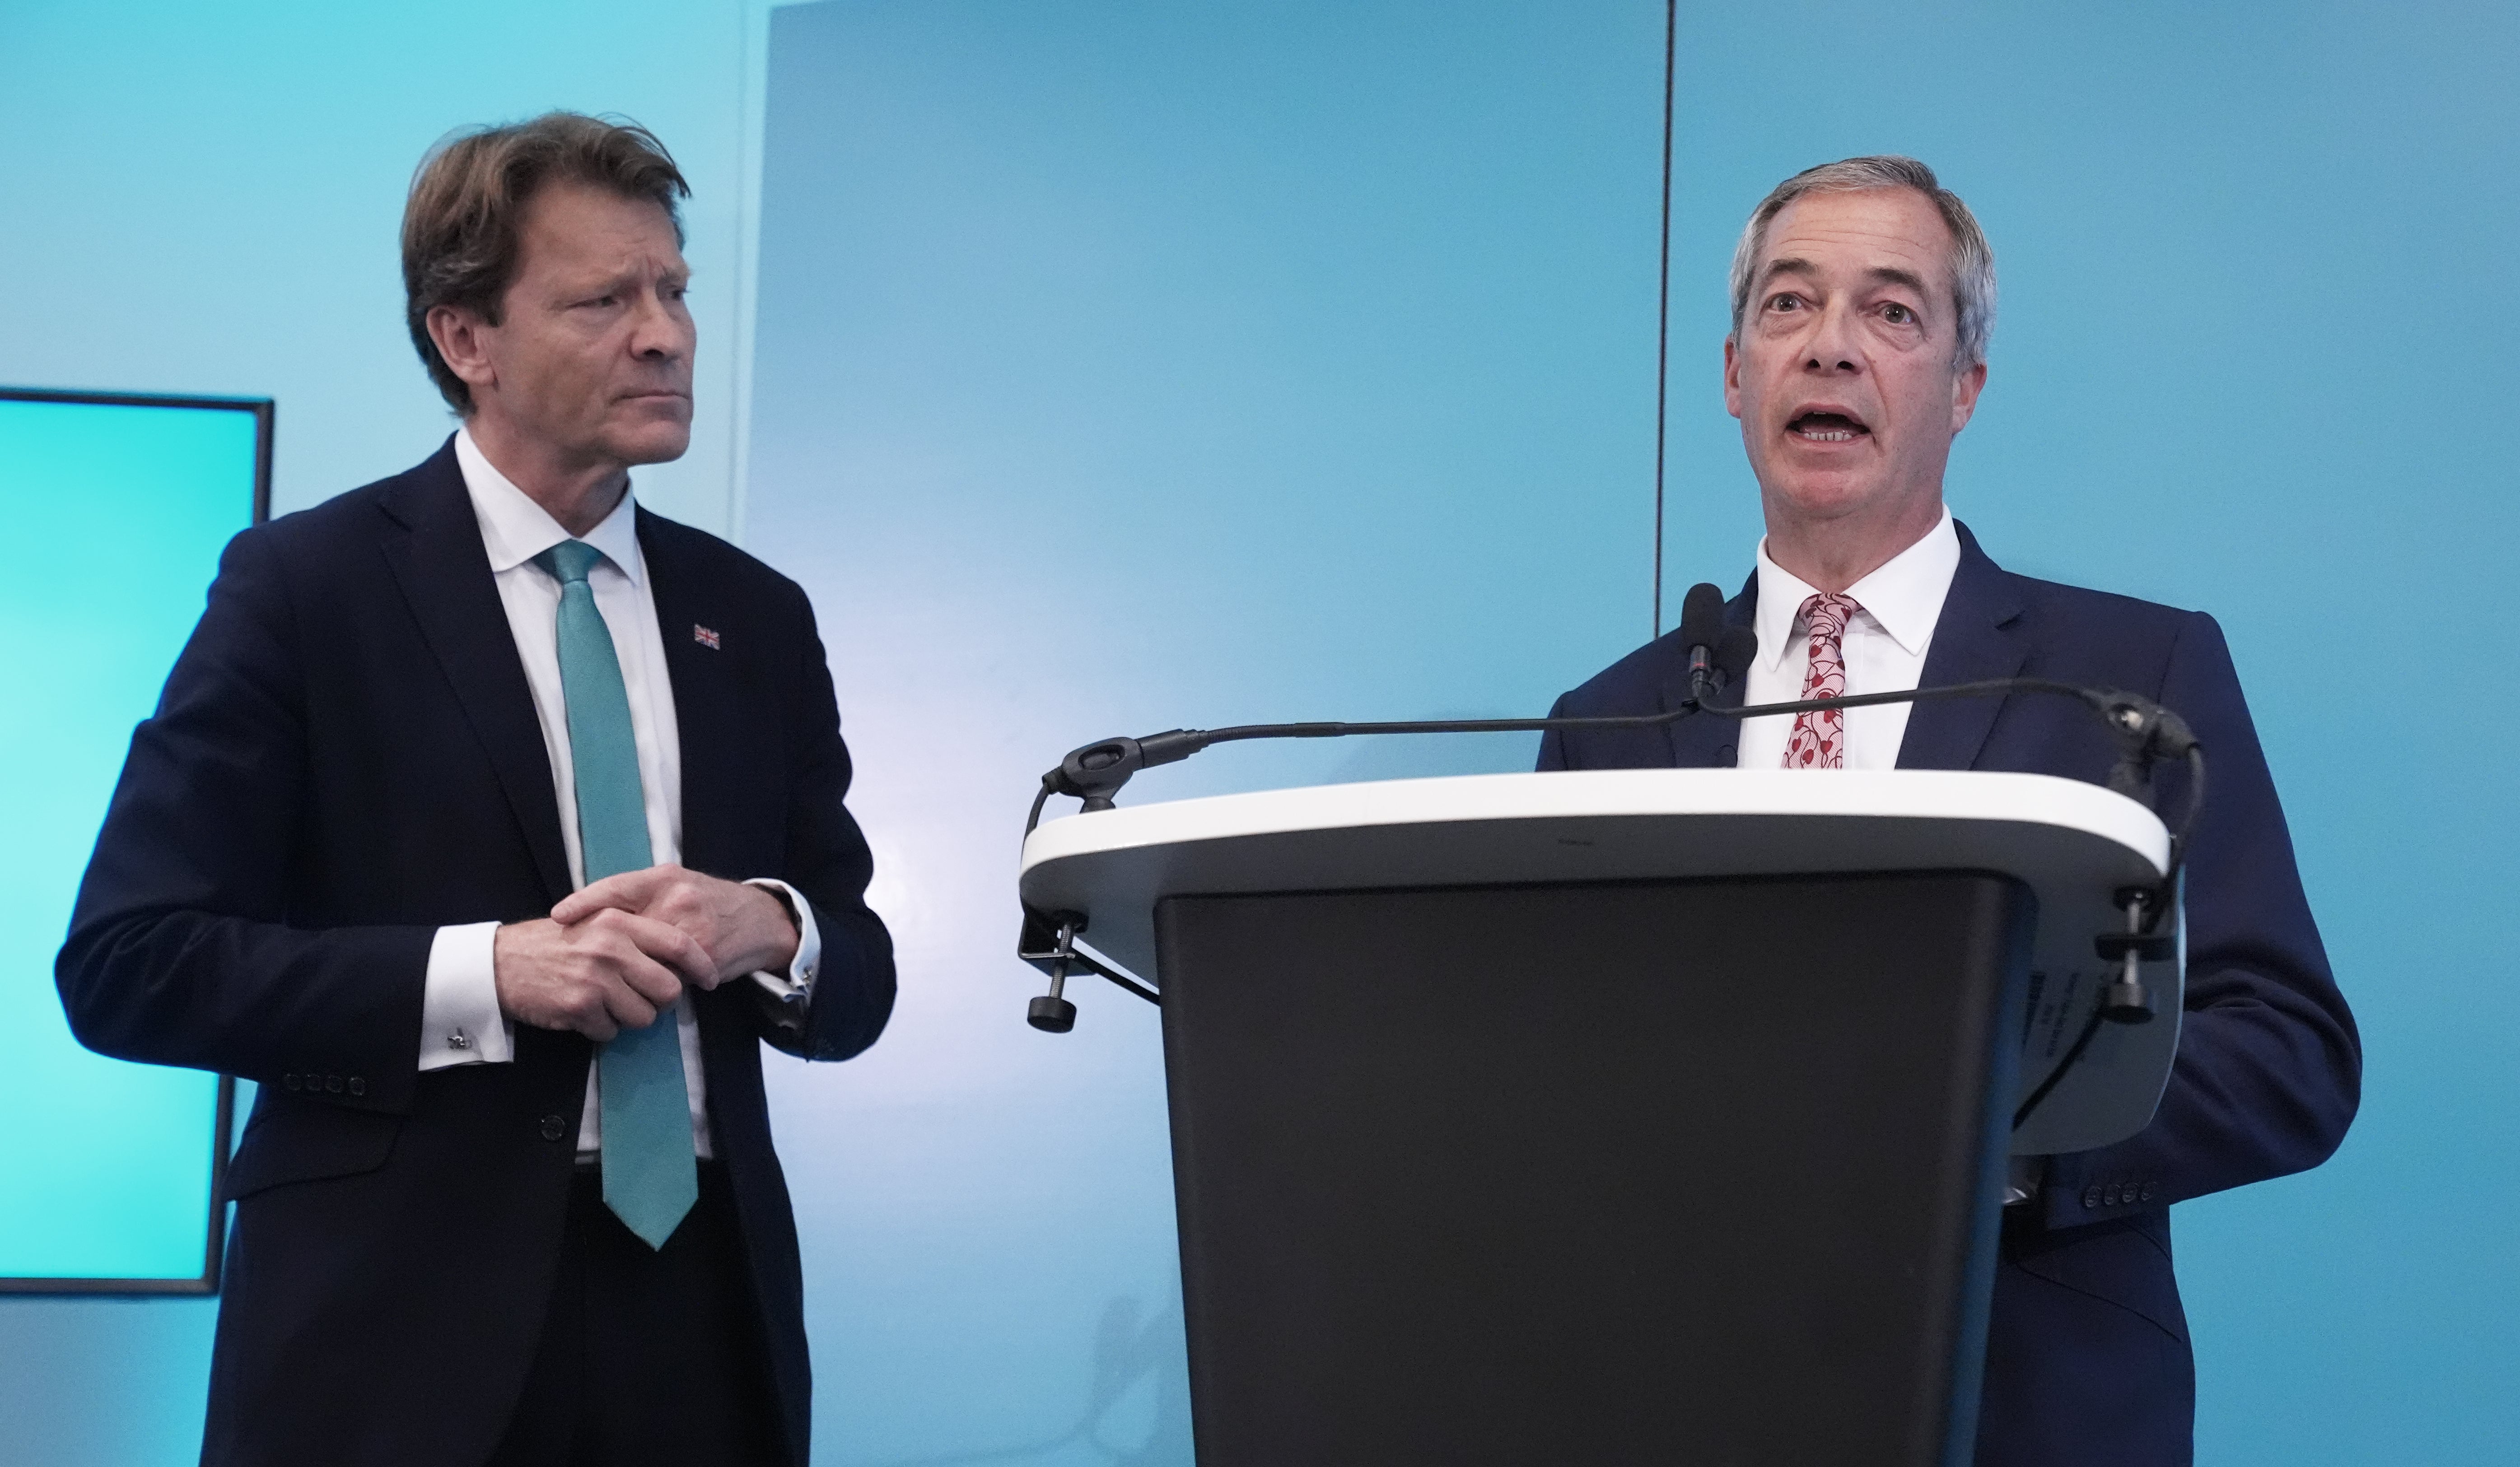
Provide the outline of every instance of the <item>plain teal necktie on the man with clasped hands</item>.
[[[587,882],[655,865],[648,799],[630,734],[630,693],[612,633],[595,610],[587,572],[605,552],[564,539],[534,557],[559,580],[559,691],[570,703],[570,764],[577,769],[577,844]],[[690,1159],[690,1094],[683,1086],[683,1036],[675,1011],[648,1028],[625,1028],[595,1059],[602,1096],[605,1205],[648,1248],[673,1238],[701,1195]]]

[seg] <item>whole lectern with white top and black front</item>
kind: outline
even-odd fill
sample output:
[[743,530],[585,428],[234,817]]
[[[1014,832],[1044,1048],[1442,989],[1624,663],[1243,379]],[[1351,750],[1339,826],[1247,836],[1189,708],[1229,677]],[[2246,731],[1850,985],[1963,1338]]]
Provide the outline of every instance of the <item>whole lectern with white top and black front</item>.
[[1600,771],[1046,824],[1159,978],[1202,1467],[1966,1462],[2006,1157],[2150,1119],[2102,1026],[2167,832],[2026,774]]

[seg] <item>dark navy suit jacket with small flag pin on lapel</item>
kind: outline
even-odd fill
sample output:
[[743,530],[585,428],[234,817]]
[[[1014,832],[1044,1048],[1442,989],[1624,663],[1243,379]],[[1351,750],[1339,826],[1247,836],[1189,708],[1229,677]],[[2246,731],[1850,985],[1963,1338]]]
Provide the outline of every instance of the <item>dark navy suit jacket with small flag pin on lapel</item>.
[[[806,595],[670,519],[640,512],[638,537],[680,723],[683,865],[786,880],[822,930],[804,1016],[759,983],[693,993],[801,1467],[811,1376],[761,1041],[806,1059],[874,1044],[892,940],[862,900]],[[514,1064],[421,1074],[421,988],[436,928],[539,918],[567,892],[542,726],[451,441],[229,542],[131,739],[55,968],[91,1049],[260,1084],[227,1172],[204,1462],[489,1457],[552,1291],[592,1044],[519,1026]]]

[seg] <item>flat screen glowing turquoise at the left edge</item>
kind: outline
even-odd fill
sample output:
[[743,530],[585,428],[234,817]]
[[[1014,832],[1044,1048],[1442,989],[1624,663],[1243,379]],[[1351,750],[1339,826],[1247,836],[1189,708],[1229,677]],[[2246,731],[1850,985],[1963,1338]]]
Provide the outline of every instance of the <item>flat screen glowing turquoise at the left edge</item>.
[[262,398],[0,388],[0,1293],[219,1291],[234,1084],[81,1049],[53,953],[270,464]]

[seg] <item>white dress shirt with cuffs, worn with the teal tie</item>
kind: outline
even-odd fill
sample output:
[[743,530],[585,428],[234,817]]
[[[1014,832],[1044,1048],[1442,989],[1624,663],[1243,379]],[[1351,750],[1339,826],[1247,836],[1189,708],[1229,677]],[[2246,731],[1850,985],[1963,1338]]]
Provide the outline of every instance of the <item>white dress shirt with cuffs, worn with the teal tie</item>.
[[[491,580],[507,607],[507,628],[517,638],[524,681],[534,691],[534,718],[542,723],[542,749],[552,759],[552,794],[559,802],[559,839],[570,854],[570,887],[587,885],[587,862],[577,837],[577,776],[570,761],[570,706],[559,688],[559,580],[534,565],[544,549],[570,539],[557,519],[491,466],[471,431],[456,431],[456,464],[481,522],[481,547],[489,552]],[[648,585],[648,557],[638,544],[638,509],[625,492],[602,524],[582,537],[605,557],[587,575],[595,610],[612,633],[612,650],[630,693],[630,734],[638,741],[638,779],[648,802],[648,849],[658,865],[683,860],[683,741],[673,713],[673,678],[665,668],[665,638],[655,625],[655,592]],[[756,880],[779,892],[796,915],[796,960],[786,975],[753,973],[753,981],[789,1001],[806,1001],[814,968],[822,960],[822,935],[814,907],[786,882]],[[421,998],[421,1069],[454,1064],[509,1064],[517,1056],[514,1026],[499,1013],[499,986],[491,943],[499,923],[438,928],[428,948],[428,978]],[[690,1003],[673,1006],[683,1041],[683,1084],[690,1091],[690,1144],[701,1157],[708,1147],[708,1081],[701,1074],[701,1026]],[[597,1066],[587,1066],[587,1112],[577,1124],[577,1152],[602,1147],[602,1107],[597,1104]]]

